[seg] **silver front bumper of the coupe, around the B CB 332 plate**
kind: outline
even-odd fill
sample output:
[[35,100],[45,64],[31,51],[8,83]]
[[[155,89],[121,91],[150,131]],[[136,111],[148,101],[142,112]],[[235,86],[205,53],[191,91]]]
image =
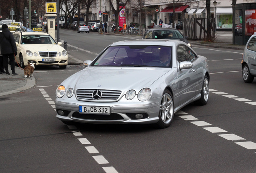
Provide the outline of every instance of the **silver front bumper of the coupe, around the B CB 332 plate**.
[[[159,121],[159,99],[151,99],[150,103],[147,102],[144,104],[140,101],[138,101],[138,103],[134,103],[134,101],[129,103],[129,101],[127,102],[124,99],[121,99],[118,102],[109,103],[84,102],[77,100],[76,103],[68,103],[64,100],[66,99],[57,98],[55,101],[56,117],[62,121],[95,124],[153,124]],[[110,107],[110,115],[79,113],[79,106]],[[59,111],[63,111],[64,115],[60,115]],[[142,114],[143,117],[137,119],[136,114]]]

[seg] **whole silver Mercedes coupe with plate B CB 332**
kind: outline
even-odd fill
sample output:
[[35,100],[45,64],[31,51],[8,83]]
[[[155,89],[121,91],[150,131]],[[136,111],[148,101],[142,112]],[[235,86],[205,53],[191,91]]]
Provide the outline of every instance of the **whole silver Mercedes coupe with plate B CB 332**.
[[209,64],[179,40],[126,40],[107,46],[56,90],[63,123],[155,124],[209,99]]

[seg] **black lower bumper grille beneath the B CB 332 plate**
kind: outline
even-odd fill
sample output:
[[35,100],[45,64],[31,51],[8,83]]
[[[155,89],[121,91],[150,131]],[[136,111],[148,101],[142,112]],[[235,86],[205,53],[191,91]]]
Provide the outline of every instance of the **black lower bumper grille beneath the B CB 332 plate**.
[[111,113],[110,115],[97,115],[97,114],[81,114],[74,112],[72,117],[79,119],[89,119],[89,120],[123,120],[124,118],[116,113]]

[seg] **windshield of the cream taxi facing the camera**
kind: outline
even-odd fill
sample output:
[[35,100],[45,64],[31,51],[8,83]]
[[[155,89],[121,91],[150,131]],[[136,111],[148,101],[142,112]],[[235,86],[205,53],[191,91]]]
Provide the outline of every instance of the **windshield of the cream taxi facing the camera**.
[[23,35],[22,44],[56,44],[50,35]]

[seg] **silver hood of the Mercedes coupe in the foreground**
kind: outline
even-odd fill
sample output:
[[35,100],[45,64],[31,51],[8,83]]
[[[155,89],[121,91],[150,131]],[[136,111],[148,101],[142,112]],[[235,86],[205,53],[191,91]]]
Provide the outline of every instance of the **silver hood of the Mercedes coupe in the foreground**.
[[155,80],[171,68],[144,67],[87,67],[67,78],[62,84],[77,89],[110,89],[140,91],[149,87]]

